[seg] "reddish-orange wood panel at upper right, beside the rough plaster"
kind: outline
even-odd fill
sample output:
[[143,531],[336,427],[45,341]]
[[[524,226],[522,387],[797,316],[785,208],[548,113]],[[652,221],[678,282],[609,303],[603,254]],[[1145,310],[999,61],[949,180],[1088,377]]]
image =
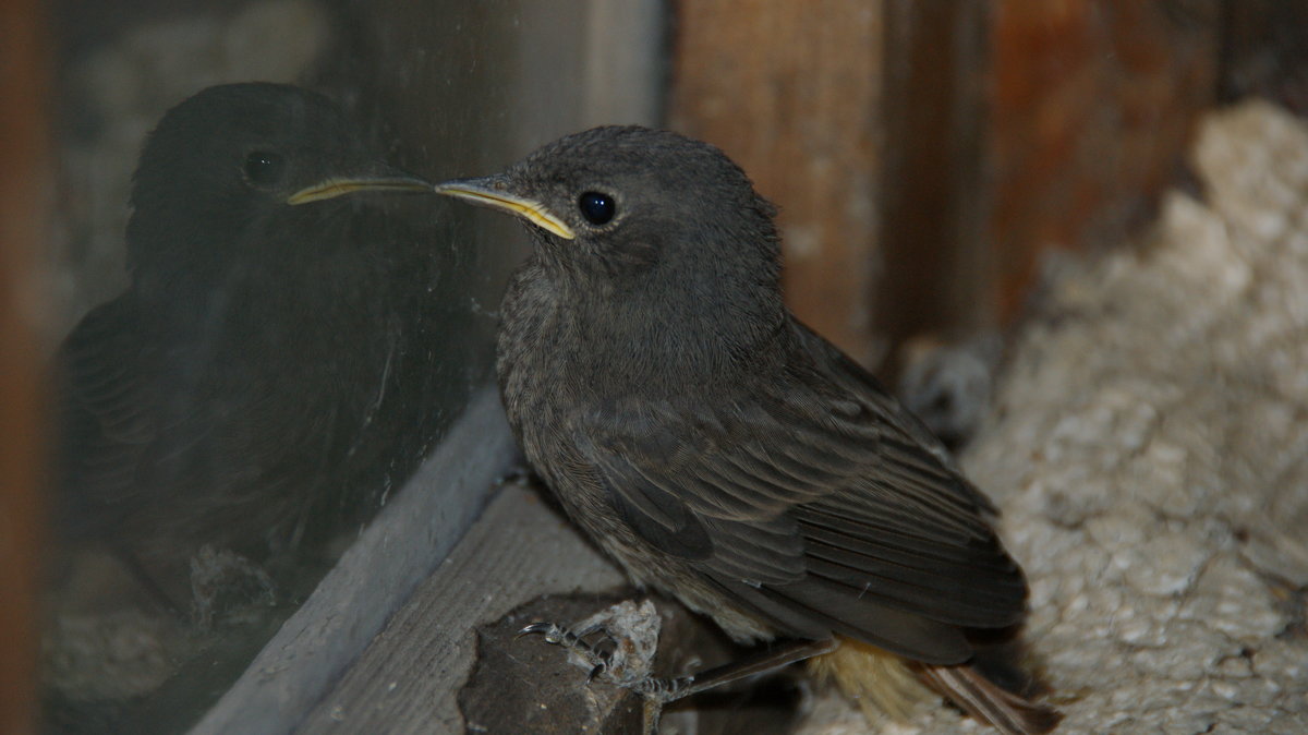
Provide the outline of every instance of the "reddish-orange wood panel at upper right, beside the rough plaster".
[[1041,252],[1151,221],[1215,102],[1216,0],[997,0],[991,132],[997,306],[1019,313]]

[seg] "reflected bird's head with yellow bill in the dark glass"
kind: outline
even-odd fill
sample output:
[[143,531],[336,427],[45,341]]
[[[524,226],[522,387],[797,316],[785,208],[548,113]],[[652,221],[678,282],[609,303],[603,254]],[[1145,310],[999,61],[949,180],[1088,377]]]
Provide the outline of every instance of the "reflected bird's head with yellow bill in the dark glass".
[[[267,82],[211,86],[169,110],[132,178],[133,265],[221,250],[269,216],[362,191],[430,191],[383,163],[326,97]],[[221,256],[209,252],[208,256]]]

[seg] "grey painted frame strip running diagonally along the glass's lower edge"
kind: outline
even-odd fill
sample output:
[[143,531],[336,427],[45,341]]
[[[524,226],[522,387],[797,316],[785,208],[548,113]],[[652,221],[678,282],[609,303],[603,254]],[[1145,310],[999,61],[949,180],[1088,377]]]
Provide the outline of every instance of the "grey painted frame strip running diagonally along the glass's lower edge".
[[498,396],[485,388],[192,735],[288,732],[301,722],[455,547],[511,447]]

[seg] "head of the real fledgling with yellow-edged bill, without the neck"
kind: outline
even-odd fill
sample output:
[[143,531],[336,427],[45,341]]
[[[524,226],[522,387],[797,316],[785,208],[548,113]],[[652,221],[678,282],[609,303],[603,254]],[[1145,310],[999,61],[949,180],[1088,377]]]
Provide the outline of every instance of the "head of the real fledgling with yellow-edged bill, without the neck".
[[725,153],[674,132],[593,128],[436,191],[521,217],[540,259],[561,271],[625,286],[697,272],[706,286],[776,288],[776,209]]

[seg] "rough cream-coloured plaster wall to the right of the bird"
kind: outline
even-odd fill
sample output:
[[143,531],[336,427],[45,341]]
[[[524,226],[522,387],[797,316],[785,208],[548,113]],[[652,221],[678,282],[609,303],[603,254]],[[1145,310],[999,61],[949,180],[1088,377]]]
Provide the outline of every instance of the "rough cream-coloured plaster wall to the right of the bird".
[[[1308,732],[1308,128],[1247,103],[1192,161],[1207,203],[1056,280],[965,458],[1067,735]],[[803,732],[863,728],[823,696]]]

